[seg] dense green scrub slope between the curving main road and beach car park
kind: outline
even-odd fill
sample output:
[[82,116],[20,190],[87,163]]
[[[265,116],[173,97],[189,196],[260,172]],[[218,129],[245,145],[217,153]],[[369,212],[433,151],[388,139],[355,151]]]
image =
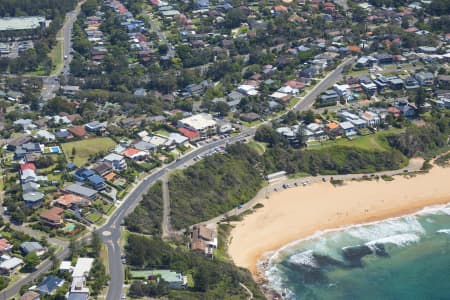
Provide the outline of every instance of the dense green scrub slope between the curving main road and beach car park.
[[248,201],[262,187],[260,157],[238,144],[170,177],[171,220],[183,229]]

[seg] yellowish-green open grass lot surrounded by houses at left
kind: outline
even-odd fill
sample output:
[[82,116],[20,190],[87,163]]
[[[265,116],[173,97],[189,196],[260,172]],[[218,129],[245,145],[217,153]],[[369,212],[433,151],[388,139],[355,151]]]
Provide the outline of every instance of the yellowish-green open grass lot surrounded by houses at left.
[[108,151],[115,145],[116,143],[112,139],[101,137],[61,144],[61,147],[66,155],[67,160],[70,160],[72,148],[75,148],[76,153],[73,159],[73,163],[80,167],[88,162],[90,155],[96,154],[101,151]]

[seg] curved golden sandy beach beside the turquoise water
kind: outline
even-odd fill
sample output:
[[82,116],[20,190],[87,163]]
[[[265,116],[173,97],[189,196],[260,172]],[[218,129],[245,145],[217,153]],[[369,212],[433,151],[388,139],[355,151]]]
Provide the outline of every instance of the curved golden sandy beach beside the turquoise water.
[[264,253],[317,231],[413,213],[425,206],[450,202],[450,168],[433,167],[427,174],[393,181],[329,182],[271,192],[264,205],[236,222],[229,255],[235,264],[258,277],[256,264]]

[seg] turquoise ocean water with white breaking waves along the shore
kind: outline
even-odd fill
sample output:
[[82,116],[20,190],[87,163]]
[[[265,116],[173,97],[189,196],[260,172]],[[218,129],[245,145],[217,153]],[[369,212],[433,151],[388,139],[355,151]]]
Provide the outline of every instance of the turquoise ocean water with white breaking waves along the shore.
[[450,204],[320,232],[267,259],[285,299],[450,299]]

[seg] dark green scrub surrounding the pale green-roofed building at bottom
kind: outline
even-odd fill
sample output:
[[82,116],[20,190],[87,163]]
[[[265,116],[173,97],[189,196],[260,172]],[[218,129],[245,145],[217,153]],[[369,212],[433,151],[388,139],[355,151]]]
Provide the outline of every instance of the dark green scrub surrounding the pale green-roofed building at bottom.
[[[128,262],[133,269],[161,268],[190,274],[193,287],[186,291],[170,291],[172,299],[246,299],[248,293],[240,286],[244,284],[252,293],[253,299],[264,299],[248,270],[238,268],[222,260],[211,260],[201,254],[190,252],[183,246],[169,245],[159,239],[150,239],[131,234],[125,247]],[[164,288],[140,289],[139,283],[133,283],[130,293],[135,297],[160,296]],[[151,291],[150,291],[151,290]],[[142,291],[142,293],[140,293]],[[181,297],[182,296],[182,297]]]

